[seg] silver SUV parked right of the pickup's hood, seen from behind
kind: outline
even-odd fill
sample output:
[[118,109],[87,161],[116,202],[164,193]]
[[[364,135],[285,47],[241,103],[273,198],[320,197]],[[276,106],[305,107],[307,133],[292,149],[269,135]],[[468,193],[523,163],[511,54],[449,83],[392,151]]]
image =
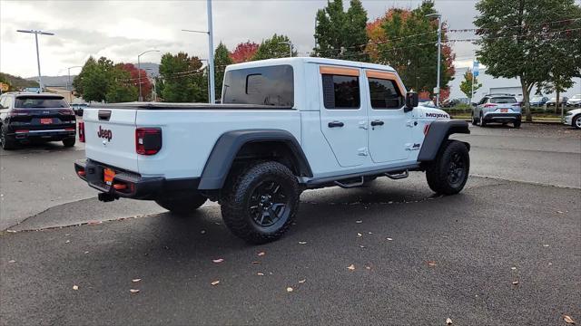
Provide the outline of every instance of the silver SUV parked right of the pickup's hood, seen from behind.
[[520,128],[520,102],[512,94],[487,94],[472,110],[472,124],[486,127],[487,123],[512,123]]

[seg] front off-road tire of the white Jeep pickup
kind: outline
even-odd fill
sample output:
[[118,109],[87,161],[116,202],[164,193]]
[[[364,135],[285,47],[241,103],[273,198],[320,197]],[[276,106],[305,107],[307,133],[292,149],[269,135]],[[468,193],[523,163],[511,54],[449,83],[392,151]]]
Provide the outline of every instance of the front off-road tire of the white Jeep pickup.
[[[460,167],[456,162],[457,155],[463,167]],[[458,168],[464,170],[463,174],[458,177],[458,181],[453,182],[454,176],[450,176],[450,173],[458,173]],[[434,192],[442,195],[455,195],[466,185],[469,171],[470,158],[466,145],[458,140],[448,140],[444,147],[439,150],[438,158],[426,169],[426,179],[429,188]]]

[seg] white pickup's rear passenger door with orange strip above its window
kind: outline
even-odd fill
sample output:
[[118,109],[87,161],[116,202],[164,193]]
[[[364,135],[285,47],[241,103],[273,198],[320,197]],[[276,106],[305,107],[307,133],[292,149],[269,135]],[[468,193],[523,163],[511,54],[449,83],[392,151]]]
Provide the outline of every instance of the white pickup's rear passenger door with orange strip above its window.
[[320,129],[341,167],[363,164],[368,155],[367,112],[360,70],[320,66]]

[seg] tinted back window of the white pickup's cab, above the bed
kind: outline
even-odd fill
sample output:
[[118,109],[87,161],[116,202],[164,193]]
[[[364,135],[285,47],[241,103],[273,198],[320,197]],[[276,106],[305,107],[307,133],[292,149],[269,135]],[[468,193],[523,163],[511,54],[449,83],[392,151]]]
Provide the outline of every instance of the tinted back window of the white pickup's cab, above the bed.
[[285,64],[226,72],[222,103],[292,108],[294,105],[292,66]]

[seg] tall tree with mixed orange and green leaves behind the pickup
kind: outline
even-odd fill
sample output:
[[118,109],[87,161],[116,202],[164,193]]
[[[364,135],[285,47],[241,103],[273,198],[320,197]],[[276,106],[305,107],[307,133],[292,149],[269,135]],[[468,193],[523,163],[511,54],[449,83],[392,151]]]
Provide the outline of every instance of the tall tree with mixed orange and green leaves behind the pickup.
[[[437,85],[438,22],[426,15],[436,14],[432,2],[423,2],[408,10],[393,8],[369,24],[369,45],[366,51],[372,62],[389,64],[409,88],[431,92]],[[446,42],[445,24],[442,41]],[[448,44],[442,45],[440,57],[440,101],[448,94],[448,82],[454,79],[455,58]]]

